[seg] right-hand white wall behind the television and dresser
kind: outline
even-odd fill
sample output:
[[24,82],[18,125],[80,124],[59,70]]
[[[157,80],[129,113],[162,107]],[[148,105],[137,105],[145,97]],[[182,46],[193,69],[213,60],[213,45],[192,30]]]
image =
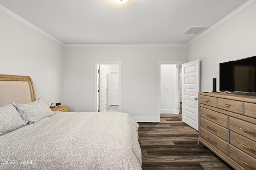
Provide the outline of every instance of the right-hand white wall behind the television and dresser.
[[201,91],[212,91],[219,63],[256,56],[256,5],[228,21],[188,47],[188,61],[201,61]]

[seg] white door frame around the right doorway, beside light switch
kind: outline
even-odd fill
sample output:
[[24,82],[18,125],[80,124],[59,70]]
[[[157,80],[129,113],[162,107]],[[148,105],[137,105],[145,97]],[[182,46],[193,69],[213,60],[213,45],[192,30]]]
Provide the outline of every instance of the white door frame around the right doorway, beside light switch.
[[158,122],[160,122],[160,109],[161,109],[161,103],[160,103],[160,76],[161,76],[161,64],[183,64],[186,63],[186,61],[158,61],[158,80],[157,80],[157,119]]

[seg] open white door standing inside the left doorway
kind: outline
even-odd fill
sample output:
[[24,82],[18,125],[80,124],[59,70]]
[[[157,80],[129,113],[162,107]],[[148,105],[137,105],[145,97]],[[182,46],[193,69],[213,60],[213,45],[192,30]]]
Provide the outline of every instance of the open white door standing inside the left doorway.
[[99,111],[106,111],[107,70],[99,65]]

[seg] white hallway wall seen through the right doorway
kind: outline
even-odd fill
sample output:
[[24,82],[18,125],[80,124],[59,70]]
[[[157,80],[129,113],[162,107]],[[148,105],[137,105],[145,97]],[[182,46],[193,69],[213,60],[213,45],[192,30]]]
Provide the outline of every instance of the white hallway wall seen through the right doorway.
[[175,100],[178,100],[176,96],[176,64],[161,64],[160,68],[160,113],[176,113],[178,106]]

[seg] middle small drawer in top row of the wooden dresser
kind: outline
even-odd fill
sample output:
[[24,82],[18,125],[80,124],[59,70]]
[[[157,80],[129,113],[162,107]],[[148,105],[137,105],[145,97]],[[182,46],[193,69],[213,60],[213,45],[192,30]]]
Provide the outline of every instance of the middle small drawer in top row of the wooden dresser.
[[240,102],[236,100],[218,98],[217,107],[220,109],[232,111],[238,114],[243,114],[243,103],[244,102]]

